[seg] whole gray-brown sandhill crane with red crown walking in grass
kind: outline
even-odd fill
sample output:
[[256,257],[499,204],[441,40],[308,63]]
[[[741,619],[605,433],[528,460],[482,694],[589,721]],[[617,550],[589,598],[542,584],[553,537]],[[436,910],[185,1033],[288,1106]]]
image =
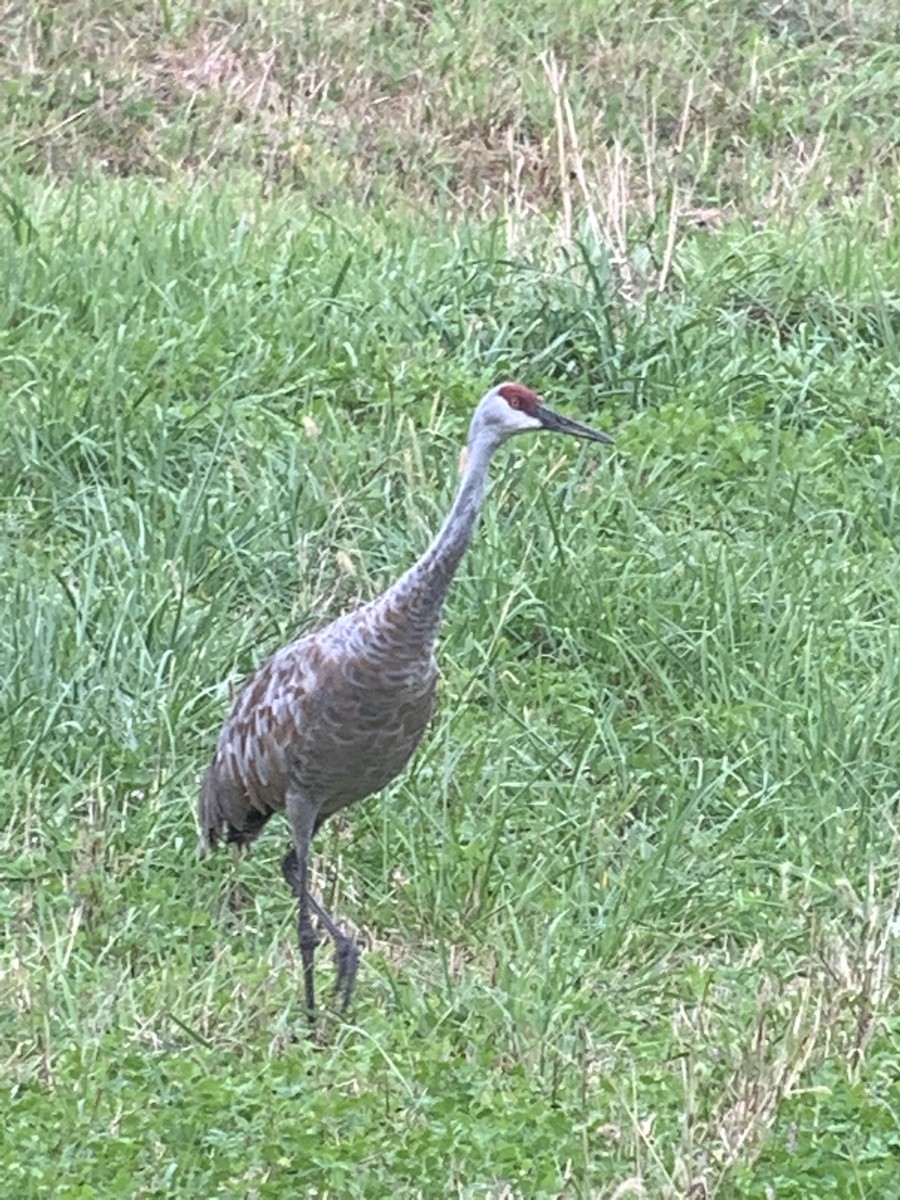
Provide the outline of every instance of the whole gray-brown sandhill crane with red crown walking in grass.
[[359,949],[310,893],[310,842],[332,814],[398,775],[419,744],[434,703],[440,611],[472,540],[491,457],[514,434],[541,430],[612,442],[545,408],[520,383],[492,388],[472,419],[456,499],[422,557],[378,599],[277,650],[245,683],[222,728],[200,790],[202,840],[246,847],[274,812],[287,812],[293,845],[282,871],[299,904],[311,1014],[312,913],[335,942],[343,1008]]

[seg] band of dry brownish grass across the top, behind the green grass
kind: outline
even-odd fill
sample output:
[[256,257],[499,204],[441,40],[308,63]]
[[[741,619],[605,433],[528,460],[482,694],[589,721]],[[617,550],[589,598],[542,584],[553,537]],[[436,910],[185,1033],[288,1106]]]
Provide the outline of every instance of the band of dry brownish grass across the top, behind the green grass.
[[[870,5],[768,22],[586,5],[550,38],[540,6],[503,0],[12,5],[6,146],[62,176],[244,169],[320,203],[504,212],[514,234],[552,211],[563,241],[602,236],[626,284],[661,288],[678,228],[865,191],[840,101],[866,92],[872,61],[869,90],[887,78],[872,56],[886,20]],[[832,49],[812,70],[816,36]],[[888,170],[894,118],[871,97],[865,110]],[[659,260],[642,280],[628,247],[649,232]]]

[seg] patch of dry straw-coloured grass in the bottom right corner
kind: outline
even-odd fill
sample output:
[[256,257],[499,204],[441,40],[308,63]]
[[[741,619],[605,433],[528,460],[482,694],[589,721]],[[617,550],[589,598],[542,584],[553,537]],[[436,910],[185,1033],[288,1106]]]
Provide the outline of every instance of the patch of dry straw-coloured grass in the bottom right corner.
[[[821,1063],[840,1063],[847,1079],[859,1078],[876,1026],[896,1004],[900,893],[895,883],[883,898],[874,872],[865,895],[850,884],[845,890],[846,919],[840,928],[810,930],[812,953],[790,977],[761,972],[758,944],[742,961],[748,977],[762,980],[749,1006],[719,986],[674,1013],[673,1058],[686,1100],[682,1144],[660,1145],[653,1121],[637,1114],[630,1130],[643,1147],[636,1157],[667,1177],[672,1198],[721,1194],[736,1164],[751,1164],[772,1138],[784,1103],[814,1086]],[[736,1030],[742,1007],[746,1021]],[[791,1142],[794,1132],[785,1136]],[[637,1190],[623,1194],[650,1194],[640,1178],[630,1183]]]

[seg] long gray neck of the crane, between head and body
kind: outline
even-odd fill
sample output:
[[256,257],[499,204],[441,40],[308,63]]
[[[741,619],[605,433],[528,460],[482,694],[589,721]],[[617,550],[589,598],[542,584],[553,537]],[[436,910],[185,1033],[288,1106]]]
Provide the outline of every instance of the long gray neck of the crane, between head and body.
[[410,635],[418,634],[428,646],[437,634],[456,569],[472,541],[485,499],[487,468],[498,445],[484,433],[469,442],[466,474],[446,520],[419,562],[382,598],[385,608],[408,619]]

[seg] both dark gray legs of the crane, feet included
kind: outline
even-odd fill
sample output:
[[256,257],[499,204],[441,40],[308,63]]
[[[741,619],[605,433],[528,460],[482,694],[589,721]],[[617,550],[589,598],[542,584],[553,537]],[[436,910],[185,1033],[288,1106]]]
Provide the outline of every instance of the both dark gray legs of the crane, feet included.
[[325,926],[325,931],[335,943],[335,962],[337,964],[337,978],[335,979],[335,995],[341,997],[341,1010],[343,1012],[350,1002],[353,984],[356,979],[359,967],[359,947],[352,937],[348,937],[337,926],[331,914],[310,893],[308,863],[310,842],[316,830],[316,818],[318,809],[301,798],[288,796],[287,814],[294,832],[294,845],[284,856],[281,864],[282,874],[298,899],[300,906],[298,922],[298,944],[300,958],[304,964],[304,985],[306,989],[306,1007],[312,1013],[316,1008],[312,962],[318,938],[312,928],[311,910]]

